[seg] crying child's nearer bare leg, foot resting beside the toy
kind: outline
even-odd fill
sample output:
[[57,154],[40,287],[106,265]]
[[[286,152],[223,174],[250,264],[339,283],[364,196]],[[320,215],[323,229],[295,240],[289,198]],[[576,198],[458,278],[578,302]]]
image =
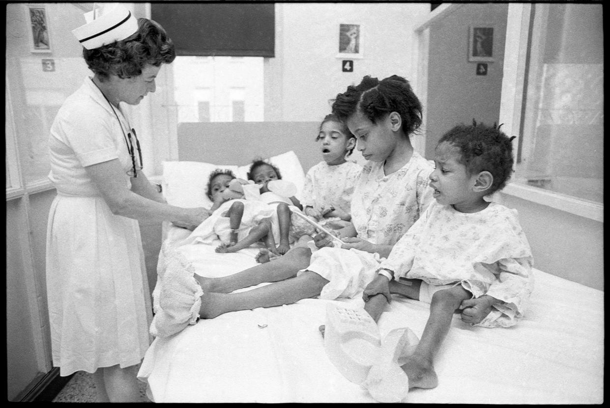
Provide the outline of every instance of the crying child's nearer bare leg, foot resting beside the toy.
[[443,289],[432,295],[430,316],[422,333],[422,339],[411,356],[399,362],[409,378],[409,388],[434,388],[439,379],[432,364],[434,356],[447,336],[453,312],[459,308],[462,300],[472,294],[461,285]]

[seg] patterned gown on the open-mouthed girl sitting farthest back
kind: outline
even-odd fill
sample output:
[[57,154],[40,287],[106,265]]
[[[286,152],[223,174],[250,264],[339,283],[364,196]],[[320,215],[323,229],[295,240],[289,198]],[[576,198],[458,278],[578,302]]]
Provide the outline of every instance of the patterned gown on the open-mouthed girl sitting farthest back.
[[324,213],[334,207],[351,214],[351,197],[361,171],[362,166],[353,161],[336,166],[329,166],[326,161],[320,161],[310,168],[305,176],[301,200],[303,208],[312,206]]

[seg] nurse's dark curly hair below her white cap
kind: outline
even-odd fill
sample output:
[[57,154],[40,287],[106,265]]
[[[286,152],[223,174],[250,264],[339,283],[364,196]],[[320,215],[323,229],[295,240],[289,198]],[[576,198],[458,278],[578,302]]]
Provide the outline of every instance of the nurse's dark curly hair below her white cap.
[[133,35],[95,49],[83,48],[82,56],[89,69],[104,82],[110,75],[121,79],[140,76],[147,64],[171,63],[176,50],[159,23],[138,18],[138,30]]

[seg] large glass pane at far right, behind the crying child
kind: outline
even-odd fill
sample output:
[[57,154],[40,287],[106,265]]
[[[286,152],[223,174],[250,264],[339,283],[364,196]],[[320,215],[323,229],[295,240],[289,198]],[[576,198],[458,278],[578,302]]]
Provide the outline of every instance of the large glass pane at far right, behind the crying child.
[[512,181],[603,203],[601,4],[531,7]]

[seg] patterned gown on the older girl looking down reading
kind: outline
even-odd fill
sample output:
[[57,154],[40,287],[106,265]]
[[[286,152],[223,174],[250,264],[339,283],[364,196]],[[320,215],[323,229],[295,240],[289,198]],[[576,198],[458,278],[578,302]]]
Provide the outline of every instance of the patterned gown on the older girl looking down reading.
[[[433,200],[428,186],[432,170],[432,164],[415,152],[389,175],[384,174],[383,163],[368,161],[351,200],[357,236],[373,244],[394,245]],[[329,281],[320,298],[354,297],[373,279],[380,261],[378,253],[325,247],[312,254],[307,270]]]

